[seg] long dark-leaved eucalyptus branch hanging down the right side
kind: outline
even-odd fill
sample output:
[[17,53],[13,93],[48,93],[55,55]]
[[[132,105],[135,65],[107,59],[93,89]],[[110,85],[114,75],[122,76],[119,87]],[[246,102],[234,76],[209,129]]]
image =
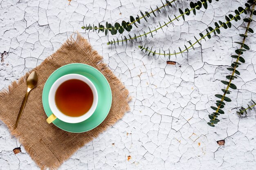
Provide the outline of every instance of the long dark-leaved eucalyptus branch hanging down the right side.
[[[211,119],[210,122],[208,122],[207,124],[209,126],[212,126],[214,127],[215,125],[214,124],[217,124],[220,120],[217,119],[218,115],[220,114],[224,114],[225,112],[221,109],[221,108],[224,108],[224,105],[225,105],[225,102],[231,102],[231,99],[229,97],[227,97],[226,95],[227,94],[230,94],[231,91],[229,91],[229,88],[232,88],[232,89],[236,89],[236,85],[235,84],[232,84],[231,81],[235,78],[237,78],[235,76],[236,75],[240,75],[240,72],[236,70],[236,68],[238,68],[238,66],[241,64],[241,63],[245,63],[245,59],[243,57],[241,57],[240,55],[243,54],[243,52],[245,52],[246,50],[249,50],[249,46],[247,46],[245,44],[245,39],[247,38],[247,33],[248,31],[253,33],[253,30],[249,28],[250,26],[250,23],[252,21],[252,17],[253,17],[253,14],[255,15],[256,13],[254,12],[254,8],[255,8],[255,3],[256,1],[255,0],[249,0],[248,2],[252,3],[252,9],[249,10],[251,12],[250,14],[250,17],[249,18],[245,18],[244,19],[244,22],[248,22],[247,26],[245,27],[246,28],[246,31],[245,31],[245,34],[243,34],[243,42],[235,42],[237,44],[240,44],[240,49],[237,49],[235,52],[237,55],[231,55],[232,58],[236,58],[236,62],[233,62],[231,64],[231,67],[227,68],[227,70],[229,71],[232,71],[232,74],[231,75],[227,75],[226,78],[229,79],[229,81],[221,81],[223,84],[227,85],[227,88],[226,89],[222,89],[222,91],[224,92],[223,95],[215,95],[216,97],[220,98],[220,100],[217,100],[216,101],[216,107],[214,106],[211,106],[211,108],[213,110],[215,110],[215,112],[213,112],[212,114],[209,115],[209,118]],[[246,6],[248,6],[249,4],[246,4]],[[250,5],[249,5],[250,6]],[[240,63],[241,62],[241,63]],[[225,102],[224,102],[225,101]]]

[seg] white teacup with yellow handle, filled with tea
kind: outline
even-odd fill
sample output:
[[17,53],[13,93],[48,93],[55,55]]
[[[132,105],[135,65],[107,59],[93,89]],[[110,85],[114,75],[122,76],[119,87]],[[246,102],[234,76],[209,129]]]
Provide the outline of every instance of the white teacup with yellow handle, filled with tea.
[[[77,86],[79,86],[79,87],[77,87],[76,84],[74,84],[74,86],[68,86],[71,82],[73,82],[73,84],[75,82],[79,82],[79,84],[77,84]],[[87,86],[85,86],[85,84]],[[65,89],[65,90],[61,90],[64,88],[64,86],[69,87],[69,88]],[[86,101],[86,97],[87,97],[87,96],[82,96],[85,93],[85,91],[84,91],[85,88],[83,88],[83,87],[88,87],[87,89],[90,88],[90,90],[91,90],[91,91],[88,91],[88,92],[90,92],[90,94],[88,93],[88,96],[93,98],[93,99],[90,98],[90,101],[88,99],[88,103],[90,103],[91,106],[89,106],[88,103],[84,103],[84,105],[83,105],[83,102],[81,103],[81,101]],[[79,89],[82,91],[80,92]],[[66,91],[67,91],[67,96],[65,96]],[[91,92],[92,92],[92,94],[91,94]],[[58,100],[56,100],[56,95],[58,95],[58,93],[59,94],[62,93],[62,96],[64,96],[64,97],[62,97],[60,102],[58,102]],[[79,95],[79,96],[77,96],[77,98],[74,98],[76,96],[73,93],[75,93],[76,95]],[[50,88],[48,98],[49,98],[49,107],[53,113],[46,119],[48,124],[52,123],[57,118],[60,119],[61,121],[65,121],[67,123],[79,123],[81,121],[85,121],[94,113],[94,111],[97,107],[97,103],[98,103],[98,93],[97,93],[97,90],[96,90],[94,84],[87,77],[85,77],[83,75],[79,75],[79,74],[67,74],[67,75],[64,75],[64,76],[58,78],[54,82],[52,87]],[[70,101],[71,99],[72,99],[72,101]],[[79,101],[79,99],[81,99],[81,101]],[[66,106],[63,105],[63,102],[64,102],[64,104],[66,104]],[[73,115],[70,116],[71,114],[74,114],[72,110],[75,110],[76,107],[78,107],[76,105],[79,104],[79,102],[80,102],[79,107],[82,108],[82,110],[79,110],[79,111],[82,112],[82,114],[79,116],[73,116]],[[61,110],[60,107],[67,108],[65,110],[65,114],[63,113],[64,110],[63,109]],[[87,109],[87,111],[85,111],[85,113],[83,113],[83,110],[86,110],[86,109]]]

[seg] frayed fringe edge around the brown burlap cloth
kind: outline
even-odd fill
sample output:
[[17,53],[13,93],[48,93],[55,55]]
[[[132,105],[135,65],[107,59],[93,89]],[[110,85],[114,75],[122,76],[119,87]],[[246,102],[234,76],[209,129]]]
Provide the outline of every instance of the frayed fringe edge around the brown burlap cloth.
[[[97,51],[93,50],[92,46],[90,45],[90,43],[86,39],[84,39],[81,35],[79,35],[79,33],[77,33],[76,40],[74,40],[74,38],[71,36],[61,46],[60,49],[58,49],[54,54],[52,54],[49,57],[47,57],[39,66],[36,66],[36,68],[34,68],[31,71],[27,72],[18,81],[12,82],[11,85],[8,86],[8,89],[3,89],[2,91],[0,91],[0,102],[1,102],[2,99],[7,97],[7,95],[13,93],[13,91],[15,91],[15,89],[18,86],[20,86],[23,83],[26,83],[27,77],[29,76],[29,74],[32,71],[40,71],[42,66],[47,64],[50,60],[54,59],[54,57],[59,55],[63,50],[65,50],[65,48],[67,48],[67,46],[69,46],[70,44],[74,44],[74,43],[78,44],[81,47],[81,49],[83,49],[83,51],[85,53],[88,53],[88,54],[90,54],[92,56],[93,62],[97,65],[97,67],[101,71],[101,73],[103,73],[104,76],[108,76],[109,83],[112,83],[112,84],[115,85],[115,87],[120,91],[122,97],[124,97],[124,99],[128,103],[132,99],[132,97],[128,97],[129,92],[125,88],[124,84],[122,84],[120,82],[120,80],[112,73],[112,71],[107,67],[107,64],[103,63],[103,57],[101,55],[99,55]],[[22,144],[22,146],[25,148],[25,150],[31,156],[31,159],[33,159],[35,161],[35,163],[39,166],[39,168],[41,170],[46,170],[47,168],[49,168],[49,170],[56,170],[59,166],[61,166],[61,164],[65,160],[67,160],[72,154],[74,154],[74,152],[76,152],[79,148],[84,146],[85,143],[91,141],[95,137],[98,137],[99,133],[101,133],[104,130],[106,130],[110,125],[114,124],[118,119],[121,119],[121,117],[124,116],[124,113],[127,112],[128,110],[130,110],[130,107],[129,107],[128,104],[125,104],[120,109],[119,114],[115,114],[114,117],[111,117],[110,121],[108,121],[107,123],[103,121],[103,123],[106,124],[106,126],[98,128],[97,132],[90,133],[91,134],[90,139],[86,139],[84,141],[81,141],[79,143],[74,144],[74,149],[68,150],[67,151],[68,153],[66,155],[64,155],[63,157],[61,157],[61,159],[59,159],[59,162],[54,163],[50,167],[45,165],[45,163],[43,162],[43,159],[40,157],[40,155],[37,154],[36,150],[34,150],[31,146],[29,146],[29,144],[26,142],[26,139],[24,139],[24,137],[22,137],[22,135],[17,130],[14,130],[13,126],[11,126],[11,123],[7,119],[2,117],[1,114],[0,114],[0,119],[4,122],[4,124],[7,125],[7,127],[11,131],[11,135],[13,135],[13,136],[15,136],[16,138],[19,139],[20,144]]]

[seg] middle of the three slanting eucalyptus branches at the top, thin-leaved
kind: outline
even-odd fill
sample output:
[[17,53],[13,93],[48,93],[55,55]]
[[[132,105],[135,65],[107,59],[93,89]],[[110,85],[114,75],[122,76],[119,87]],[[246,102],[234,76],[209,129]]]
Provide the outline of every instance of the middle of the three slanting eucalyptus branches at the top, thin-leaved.
[[[204,8],[205,9],[207,9],[207,1],[209,2],[209,3],[211,3],[212,2],[212,0],[202,0],[202,2],[200,2],[200,1],[198,1],[198,2],[196,2],[196,3],[190,3],[190,7],[191,7],[191,9],[189,9],[189,8],[186,8],[185,9],[185,12],[183,12],[182,11],[182,9],[180,9],[179,8],[179,11],[180,11],[180,15],[178,15],[178,16],[175,16],[174,15],[174,19],[171,19],[169,16],[168,16],[168,19],[169,19],[169,22],[164,22],[164,24],[163,25],[161,25],[160,24],[160,22],[159,22],[159,27],[158,28],[155,28],[154,30],[150,30],[150,28],[148,27],[148,29],[149,29],[149,32],[145,32],[144,31],[144,34],[139,34],[139,35],[134,35],[133,37],[129,34],[128,36],[129,36],[129,38],[126,38],[126,36],[124,36],[124,38],[121,36],[121,40],[119,40],[118,38],[117,38],[117,40],[115,40],[115,39],[113,39],[113,40],[111,40],[111,41],[109,41],[107,44],[109,45],[109,44],[119,44],[119,42],[122,42],[122,44],[123,44],[123,42],[127,42],[128,40],[137,40],[137,38],[141,38],[141,37],[143,37],[143,36],[145,36],[145,37],[147,37],[147,35],[148,34],[150,34],[150,36],[151,37],[153,37],[153,32],[157,32],[157,30],[159,30],[159,29],[162,29],[164,26],[167,26],[168,27],[168,24],[170,24],[170,23],[172,23],[174,20],[177,20],[177,21],[179,21],[179,19],[178,18],[180,18],[180,17],[182,17],[183,18],[183,20],[185,20],[185,15],[189,15],[190,13],[191,13],[191,11],[193,11],[193,13],[194,13],[194,15],[195,15],[195,9],[197,9],[197,10],[199,10],[200,8],[202,8],[202,5],[204,6]],[[216,0],[216,1],[218,1],[218,0]]]

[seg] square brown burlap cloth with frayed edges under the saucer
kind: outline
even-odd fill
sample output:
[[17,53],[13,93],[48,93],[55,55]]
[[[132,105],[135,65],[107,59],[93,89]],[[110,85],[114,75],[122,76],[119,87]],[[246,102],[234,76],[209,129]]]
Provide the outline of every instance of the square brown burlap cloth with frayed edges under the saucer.
[[[112,106],[106,119],[93,130],[83,133],[71,133],[47,124],[43,109],[42,92],[47,78],[59,67],[70,63],[83,63],[97,68],[108,80],[112,90]],[[38,75],[38,84],[30,93],[18,127],[13,126],[27,91],[26,73],[18,82],[13,82],[9,90],[0,92],[0,119],[11,134],[20,139],[27,153],[42,169],[57,169],[76,150],[97,137],[99,133],[120,119],[128,111],[128,90],[103,63],[103,58],[92,49],[87,40],[80,35],[76,40],[70,38],[56,53],[47,57],[42,64],[34,68]]]

